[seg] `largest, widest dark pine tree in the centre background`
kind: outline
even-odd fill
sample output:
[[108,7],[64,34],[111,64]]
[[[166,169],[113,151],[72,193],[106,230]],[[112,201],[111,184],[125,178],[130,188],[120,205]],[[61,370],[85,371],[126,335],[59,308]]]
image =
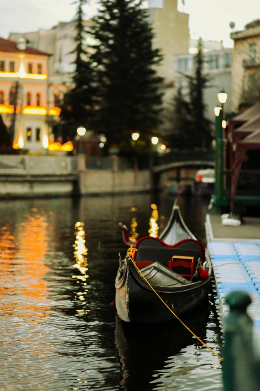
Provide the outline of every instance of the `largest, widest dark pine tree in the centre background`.
[[133,131],[148,139],[161,122],[163,79],[155,69],[162,56],[152,47],[147,10],[142,0],[100,0],[100,5],[91,56],[98,87],[96,128],[110,143],[128,143]]

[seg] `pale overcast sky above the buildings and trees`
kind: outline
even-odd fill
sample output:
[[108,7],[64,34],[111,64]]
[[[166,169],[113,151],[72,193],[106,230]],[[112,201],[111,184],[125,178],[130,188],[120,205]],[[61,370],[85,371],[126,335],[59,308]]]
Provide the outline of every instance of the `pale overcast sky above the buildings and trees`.
[[[232,46],[229,23],[241,30],[250,21],[260,18],[260,0],[178,0],[178,8],[190,15],[190,33],[204,40],[223,39]],[[7,38],[10,31],[35,31],[50,28],[59,21],[68,21],[75,14],[71,0],[0,0],[0,36]],[[90,0],[85,7],[86,17],[95,14],[98,0]]]

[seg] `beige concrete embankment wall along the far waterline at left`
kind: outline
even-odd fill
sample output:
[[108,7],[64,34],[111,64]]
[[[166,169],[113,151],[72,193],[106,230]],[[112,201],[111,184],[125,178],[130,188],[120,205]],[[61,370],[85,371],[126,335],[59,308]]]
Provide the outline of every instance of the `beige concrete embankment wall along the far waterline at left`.
[[86,167],[85,156],[0,156],[0,198],[120,194],[151,190],[149,170]]

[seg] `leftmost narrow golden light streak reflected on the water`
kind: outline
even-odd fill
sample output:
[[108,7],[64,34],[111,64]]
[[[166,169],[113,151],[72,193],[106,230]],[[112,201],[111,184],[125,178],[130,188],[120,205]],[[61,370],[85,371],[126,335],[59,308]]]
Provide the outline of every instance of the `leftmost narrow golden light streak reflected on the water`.
[[[76,263],[72,265],[73,268],[78,269],[81,274],[73,275],[72,278],[77,279],[78,283],[82,284],[82,288],[87,285],[86,281],[89,278],[88,274],[86,273],[88,269],[88,260],[87,260],[87,254],[88,249],[85,245],[86,240],[86,232],[84,230],[84,223],[77,222],[75,224],[75,243],[73,244],[74,247],[74,258],[76,260]],[[82,303],[85,303],[85,296],[88,292],[88,289],[84,288],[81,292],[75,292],[74,300],[81,300]],[[77,314],[75,316],[82,316],[89,312],[90,310],[76,310]]]

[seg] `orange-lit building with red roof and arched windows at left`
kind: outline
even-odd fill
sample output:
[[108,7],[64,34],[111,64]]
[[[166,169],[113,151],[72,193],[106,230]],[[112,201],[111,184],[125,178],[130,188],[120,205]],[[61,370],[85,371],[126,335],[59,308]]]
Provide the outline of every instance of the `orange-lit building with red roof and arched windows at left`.
[[48,84],[50,56],[28,47],[25,39],[0,38],[0,114],[16,148],[43,152],[48,146],[46,119],[60,114],[59,94]]

